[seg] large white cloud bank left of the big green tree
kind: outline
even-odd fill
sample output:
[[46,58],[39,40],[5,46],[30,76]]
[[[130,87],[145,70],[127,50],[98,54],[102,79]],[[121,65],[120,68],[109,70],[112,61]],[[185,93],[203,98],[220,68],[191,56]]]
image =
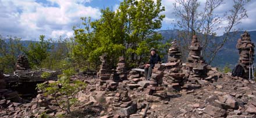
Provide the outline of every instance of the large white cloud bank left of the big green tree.
[[72,36],[72,27],[80,24],[80,17],[99,19],[101,15],[98,8],[84,6],[91,0],[47,1],[50,6],[33,0],[0,1],[0,34],[23,39],[37,38],[41,34],[52,38]]

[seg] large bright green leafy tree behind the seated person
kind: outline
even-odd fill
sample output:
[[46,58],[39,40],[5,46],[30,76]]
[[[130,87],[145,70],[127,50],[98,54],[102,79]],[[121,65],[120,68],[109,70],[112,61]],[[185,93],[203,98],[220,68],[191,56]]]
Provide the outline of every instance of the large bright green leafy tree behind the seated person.
[[130,67],[148,60],[149,49],[159,49],[162,36],[155,32],[165,17],[161,0],[125,0],[118,10],[102,9],[101,19],[82,17],[84,28],[74,27],[73,58],[87,68],[98,69],[99,56],[107,53],[111,67],[125,56]]

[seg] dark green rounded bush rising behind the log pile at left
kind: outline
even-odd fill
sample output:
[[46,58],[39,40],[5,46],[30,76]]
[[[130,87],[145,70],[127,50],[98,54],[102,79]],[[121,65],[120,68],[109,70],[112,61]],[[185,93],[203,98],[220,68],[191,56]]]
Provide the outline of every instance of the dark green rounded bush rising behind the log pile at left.
[[40,42],[30,43],[26,50],[31,67],[41,67],[41,62],[49,56],[50,42],[45,40],[44,35],[40,35]]

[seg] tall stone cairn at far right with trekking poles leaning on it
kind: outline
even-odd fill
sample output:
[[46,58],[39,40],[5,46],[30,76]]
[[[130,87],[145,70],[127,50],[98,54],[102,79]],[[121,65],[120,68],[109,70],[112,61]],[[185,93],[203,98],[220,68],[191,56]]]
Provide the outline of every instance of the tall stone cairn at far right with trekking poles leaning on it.
[[[241,39],[237,41],[236,48],[239,50],[239,60],[238,64],[241,65],[244,69],[243,78],[249,78],[249,72],[251,65],[253,65],[254,61],[254,43],[251,42],[251,37],[248,32],[244,32],[241,35]],[[251,78],[252,78],[251,72]]]

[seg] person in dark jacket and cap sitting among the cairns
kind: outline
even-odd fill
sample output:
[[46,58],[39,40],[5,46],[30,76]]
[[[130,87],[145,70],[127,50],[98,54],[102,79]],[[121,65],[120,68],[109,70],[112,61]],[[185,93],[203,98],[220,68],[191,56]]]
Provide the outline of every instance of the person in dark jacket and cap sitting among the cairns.
[[145,79],[150,80],[152,75],[152,69],[154,68],[155,64],[161,62],[160,56],[156,54],[156,50],[154,48],[150,49],[150,61],[144,65],[144,73]]

